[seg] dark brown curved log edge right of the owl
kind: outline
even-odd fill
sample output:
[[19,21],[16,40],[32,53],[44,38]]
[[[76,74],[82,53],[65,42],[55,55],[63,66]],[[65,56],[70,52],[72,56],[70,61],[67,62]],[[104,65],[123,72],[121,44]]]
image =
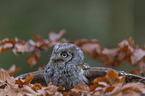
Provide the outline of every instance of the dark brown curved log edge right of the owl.
[[106,68],[106,67],[90,67],[87,70],[84,70],[84,75],[91,82],[96,77],[104,77],[109,70],[115,71],[120,76],[126,76],[125,83],[142,82],[145,84],[145,77],[126,73],[124,71],[116,71],[112,68]]

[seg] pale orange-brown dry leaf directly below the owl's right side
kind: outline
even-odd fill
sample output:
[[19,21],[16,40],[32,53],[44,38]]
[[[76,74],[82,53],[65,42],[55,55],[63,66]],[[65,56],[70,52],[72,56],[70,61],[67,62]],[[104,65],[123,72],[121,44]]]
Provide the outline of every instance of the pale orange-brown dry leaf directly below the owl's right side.
[[71,91],[74,91],[76,93],[88,92],[89,91],[89,87],[86,84],[78,84],[73,89],[71,89]]

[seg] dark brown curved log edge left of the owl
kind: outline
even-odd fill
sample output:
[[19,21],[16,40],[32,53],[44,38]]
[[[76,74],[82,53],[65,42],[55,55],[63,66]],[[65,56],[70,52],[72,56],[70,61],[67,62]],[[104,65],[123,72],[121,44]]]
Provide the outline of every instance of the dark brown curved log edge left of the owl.
[[[47,86],[47,83],[46,83],[46,81],[45,81],[43,72],[44,72],[44,70],[35,71],[35,72],[30,72],[30,73],[32,73],[32,74],[34,75],[34,78],[33,78],[33,80],[31,81],[31,83],[32,83],[32,84],[34,84],[34,83],[40,83],[41,85]],[[17,80],[18,78],[26,79],[26,77],[27,77],[30,73],[22,74],[22,75],[16,77],[15,79],[16,79],[16,80]]]

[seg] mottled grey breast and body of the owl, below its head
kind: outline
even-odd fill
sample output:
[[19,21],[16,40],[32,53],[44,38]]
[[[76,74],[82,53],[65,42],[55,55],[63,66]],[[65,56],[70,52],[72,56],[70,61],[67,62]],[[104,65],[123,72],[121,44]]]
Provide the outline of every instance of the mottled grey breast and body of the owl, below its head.
[[[48,69],[45,74],[46,82],[52,82],[56,86],[65,87],[66,90],[69,90],[81,83],[88,83],[87,79],[83,76],[83,70],[78,68],[55,68]],[[73,66],[74,67],[74,66]]]

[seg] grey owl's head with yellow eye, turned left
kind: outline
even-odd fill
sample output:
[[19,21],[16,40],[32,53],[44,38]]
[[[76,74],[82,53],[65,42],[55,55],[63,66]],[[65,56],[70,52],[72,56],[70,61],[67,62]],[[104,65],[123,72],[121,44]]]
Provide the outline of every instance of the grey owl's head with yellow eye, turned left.
[[75,44],[58,43],[54,46],[50,58],[54,63],[66,63],[74,61],[76,64],[83,64],[84,54]]

